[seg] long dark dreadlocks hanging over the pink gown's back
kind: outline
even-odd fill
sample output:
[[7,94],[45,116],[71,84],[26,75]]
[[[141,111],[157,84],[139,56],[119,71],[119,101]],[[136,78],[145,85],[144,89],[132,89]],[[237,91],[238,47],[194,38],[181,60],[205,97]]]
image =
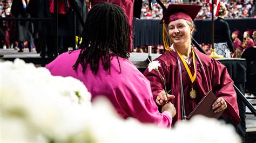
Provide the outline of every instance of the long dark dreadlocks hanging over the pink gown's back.
[[83,41],[78,59],[73,65],[77,69],[81,64],[83,73],[90,64],[90,69],[97,74],[100,61],[104,70],[109,69],[110,52],[118,57],[128,59],[127,49],[130,45],[130,28],[123,10],[111,3],[100,2],[93,6],[87,14],[82,33]]

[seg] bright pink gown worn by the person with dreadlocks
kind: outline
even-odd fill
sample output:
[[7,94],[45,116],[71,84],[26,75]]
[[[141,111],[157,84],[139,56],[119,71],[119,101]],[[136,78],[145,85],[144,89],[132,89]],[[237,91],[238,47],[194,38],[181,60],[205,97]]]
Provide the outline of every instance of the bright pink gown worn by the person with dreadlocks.
[[[116,56],[111,55],[111,75],[109,70],[99,66],[97,75],[87,65],[85,73],[82,66],[73,70],[80,50],[63,53],[49,63],[52,75],[72,76],[82,81],[92,95],[92,101],[99,95],[110,99],[116,111],[123,118],[133,117],[142,123],[154,123],[161,127],[171,128],[172,119],[169,112],[160,113],[153,100],[150,82],[140,71],[124,58],[118,58],[122,72],[120,73]],[[102,63],[102,62],[99,62]]]

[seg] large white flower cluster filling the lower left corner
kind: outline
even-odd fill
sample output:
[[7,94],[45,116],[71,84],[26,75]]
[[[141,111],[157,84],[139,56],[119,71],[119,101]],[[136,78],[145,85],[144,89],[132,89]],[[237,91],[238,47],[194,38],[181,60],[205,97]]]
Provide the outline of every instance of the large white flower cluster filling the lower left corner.
[[82,82],[19,59],[0,69],[0,142],[65,141],[84,130],[91,94]]

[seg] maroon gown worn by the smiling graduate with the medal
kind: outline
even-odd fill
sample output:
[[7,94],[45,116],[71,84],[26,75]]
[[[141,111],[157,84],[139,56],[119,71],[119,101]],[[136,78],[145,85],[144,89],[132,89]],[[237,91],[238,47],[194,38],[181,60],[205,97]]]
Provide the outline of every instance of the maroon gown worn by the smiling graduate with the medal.
[[[193,84],[193,89],[197,91],[197,97],[195,99],[190,97],[191,81],[187,75],[187,71],[183,63],[181,62],[181,75],[184,89],[186,116],[191,113],[206,92],[208,90],[212,90],[217,97],[223,97],[227,102],[227,109],[222,116],[229,116],[233,119],[235,124],[238,124],[240,122],[240,117],[237,105],[237,95],[233,88],[233,81],[231,80],[230,75],[228,75],[226,67],[221,65],[219,61],[210,58],[208,55],[200,53],[198,50],[196,50],[196,53],[203,63],[205,73],[203,68],[200,66],[199,61],[196,60],[197,77]],[[177,114],[173,118],[172,122],[174,124],[177,120],[181,120],[181,95],[176,52],[166,51],[156,60],[158,60],[161,64],[161,67],[158,67],[158,69],[165,78],[167,91],[172,89],[171,93],[169,94],[175,96],[174,99],[171,99],[171,102],[174,104],[177,110]],[[192,60],[191,65],[188,67],[192,71],[193,75],[194,70]],[[161,81],[159,74],[154,70],[149,72],[149,70],[146,69],[144,71],[144,75],[151,83],[152,94],[155,101],[158,93],[164,90],[163,82]]]

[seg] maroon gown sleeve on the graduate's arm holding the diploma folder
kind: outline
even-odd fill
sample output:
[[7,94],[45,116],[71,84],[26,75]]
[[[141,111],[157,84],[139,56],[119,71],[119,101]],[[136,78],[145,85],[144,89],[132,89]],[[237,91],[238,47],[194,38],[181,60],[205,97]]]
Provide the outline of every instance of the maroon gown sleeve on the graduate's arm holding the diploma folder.
[[239,124],[239,110],[237,94],[233,87],[233,80],[224,65],[217,60],[211,62],[211,83],[213,92],[217,97],[223,97],[227,103],[223,116],[231,117],[235,124]]

